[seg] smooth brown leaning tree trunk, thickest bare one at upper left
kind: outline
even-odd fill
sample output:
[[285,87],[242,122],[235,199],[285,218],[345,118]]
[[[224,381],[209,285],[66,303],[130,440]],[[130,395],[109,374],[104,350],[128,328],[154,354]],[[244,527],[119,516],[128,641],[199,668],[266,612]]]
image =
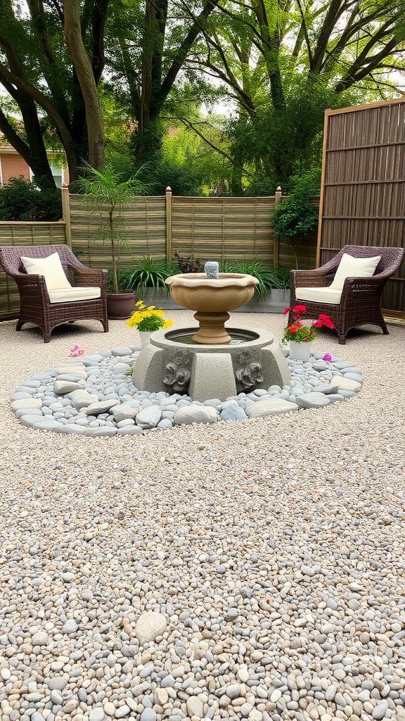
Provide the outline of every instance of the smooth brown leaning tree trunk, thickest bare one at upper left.
[[92,63],[86,53],[80,25],[80,0],[64,0],[64,40],[74,64],[86,107],[86,127],[89,138],[89,164],[96,170],[104,168],[104,131],[97,84]]

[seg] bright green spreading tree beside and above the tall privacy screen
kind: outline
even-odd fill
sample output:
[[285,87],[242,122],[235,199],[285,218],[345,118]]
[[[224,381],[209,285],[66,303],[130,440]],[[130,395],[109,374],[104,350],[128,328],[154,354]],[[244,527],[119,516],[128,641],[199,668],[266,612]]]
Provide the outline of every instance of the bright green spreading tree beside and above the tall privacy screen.
[[276,183],[319,163],[326,107],[401,92],[390,76],[405,68],[401,17],[393,0],[218,4],[188,65],[238,104],[234,159]]

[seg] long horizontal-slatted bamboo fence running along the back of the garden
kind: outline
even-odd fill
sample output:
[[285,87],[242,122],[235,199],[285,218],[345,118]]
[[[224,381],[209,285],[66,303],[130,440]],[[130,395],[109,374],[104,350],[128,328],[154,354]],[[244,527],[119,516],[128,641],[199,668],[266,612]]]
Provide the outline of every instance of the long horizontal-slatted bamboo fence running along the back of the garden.
[[[279,195],[279,198],[281,194]],[[317,203],[318,198],[313,198]],[[83,196],[63,197],[64,220],[59,223],[0,223],[0,244],[26,245],[66,243],[74,255],[89,267],[112,267],[110,242],[97,232],[104,221],[92,213]],[[119,267],[132,267],[136,259],[151,256],[171,260],[194,253],[200,260],[256,260],[273,267],[272,217],[275,198],[139,198],[123,211],[128,245],[121,246]],[[107,208],[106,208],[107,210]],[[277,245],[276,245],[277,249]],[[167,257],[169,253],[169,257]],[[300,267],[314,267],[316,239],[304,239],[298,248]],[[295,267],[293,251],[280,243],[280,267]],[[16,317],[19,309],[17,286],[0,271],[0,319]]]

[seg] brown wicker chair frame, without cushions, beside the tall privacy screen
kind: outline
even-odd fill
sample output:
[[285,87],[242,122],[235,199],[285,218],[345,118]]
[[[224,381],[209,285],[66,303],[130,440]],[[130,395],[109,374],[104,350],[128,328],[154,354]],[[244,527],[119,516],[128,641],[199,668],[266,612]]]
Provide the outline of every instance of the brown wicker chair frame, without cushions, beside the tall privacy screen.
[[[367,278],[346,278],[339,304],[324,301],[306,301],[296,297],[298,288],[326,288],[342,255],[347,253],[356,258],[381,256],[375,274]],[[328,315],[337,330],[339,343],[346,342],[347,331],[360,325],[378,325],[388,335],[388,328],[381,313],[380,299],[388,278],[398,270],[404,258],[403,248],[370,247],[362,245],[345,245],[342,250],[316,270],[291,270],[291,301],[289,323],[293,322],[292,309],[297,304],[305,304],[304,317],[318,318],[320,313]],[[299,293],[299,291],[298,291]]]

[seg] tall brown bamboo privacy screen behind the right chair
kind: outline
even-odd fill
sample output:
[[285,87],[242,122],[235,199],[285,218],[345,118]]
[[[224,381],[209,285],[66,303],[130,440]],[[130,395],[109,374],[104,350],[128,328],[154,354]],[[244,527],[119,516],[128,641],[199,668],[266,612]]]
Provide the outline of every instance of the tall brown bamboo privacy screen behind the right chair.
[[[405,99],[326,110],[317,263],[345,244],[404,247]],[[383,308],[405,314],[405,264]]]

